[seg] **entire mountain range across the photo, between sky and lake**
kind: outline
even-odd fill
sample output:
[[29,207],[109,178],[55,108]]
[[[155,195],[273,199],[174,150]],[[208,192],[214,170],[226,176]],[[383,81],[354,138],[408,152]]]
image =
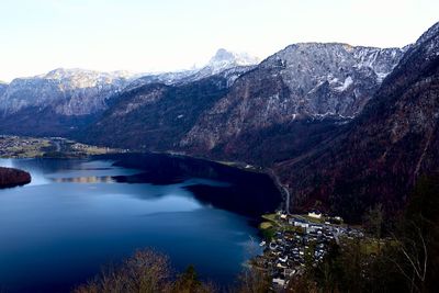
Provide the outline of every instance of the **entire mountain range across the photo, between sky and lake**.
[[300,43],[199,69],[57,69],[0,83],[0,132],[270,168],[294,210],[396,213],[438,166],[439,23],[403,48]]

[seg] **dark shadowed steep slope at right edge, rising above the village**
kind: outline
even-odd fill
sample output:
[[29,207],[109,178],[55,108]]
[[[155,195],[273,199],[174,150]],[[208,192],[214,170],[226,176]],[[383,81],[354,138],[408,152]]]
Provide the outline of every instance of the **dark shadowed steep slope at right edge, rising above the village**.
[[381,202],[392,214],[421,174],[438,170],[438,120],[439,23],[408,49],[342,134],[275,169],[297,210],[319,202],[359,221]]

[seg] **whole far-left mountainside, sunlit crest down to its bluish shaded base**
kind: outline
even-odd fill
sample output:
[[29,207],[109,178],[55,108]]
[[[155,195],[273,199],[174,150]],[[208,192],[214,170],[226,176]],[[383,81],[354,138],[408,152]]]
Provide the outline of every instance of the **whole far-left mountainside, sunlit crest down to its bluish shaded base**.
[[56,69],[14,79],[1,93],[0,132],[67,135],[106,109],[128,81],[125,72]]

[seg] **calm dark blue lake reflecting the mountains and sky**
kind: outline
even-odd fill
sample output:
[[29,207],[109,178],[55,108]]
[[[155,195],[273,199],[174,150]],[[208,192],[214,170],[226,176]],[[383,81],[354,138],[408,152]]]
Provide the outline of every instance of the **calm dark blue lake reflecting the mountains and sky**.
[[[32,183],[0,190],[0,291],[69,292],[136,249],[230,284],[259,252],[258,216],[280,194],[268,177],[164,155],[1,159]],[[252,240],[254,239],[254,240]]]

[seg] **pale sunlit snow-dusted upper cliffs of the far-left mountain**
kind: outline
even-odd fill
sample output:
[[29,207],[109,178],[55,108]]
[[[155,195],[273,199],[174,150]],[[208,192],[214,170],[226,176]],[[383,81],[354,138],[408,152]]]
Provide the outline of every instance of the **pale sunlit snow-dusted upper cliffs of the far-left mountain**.
[[105,101],[127,80],[124,72],[80,69],[56,69],[44,76],[19,78],[0,95],[0,112],[5,116],[33,106],[52,108],[66,116],[89,115],[105,109]]

